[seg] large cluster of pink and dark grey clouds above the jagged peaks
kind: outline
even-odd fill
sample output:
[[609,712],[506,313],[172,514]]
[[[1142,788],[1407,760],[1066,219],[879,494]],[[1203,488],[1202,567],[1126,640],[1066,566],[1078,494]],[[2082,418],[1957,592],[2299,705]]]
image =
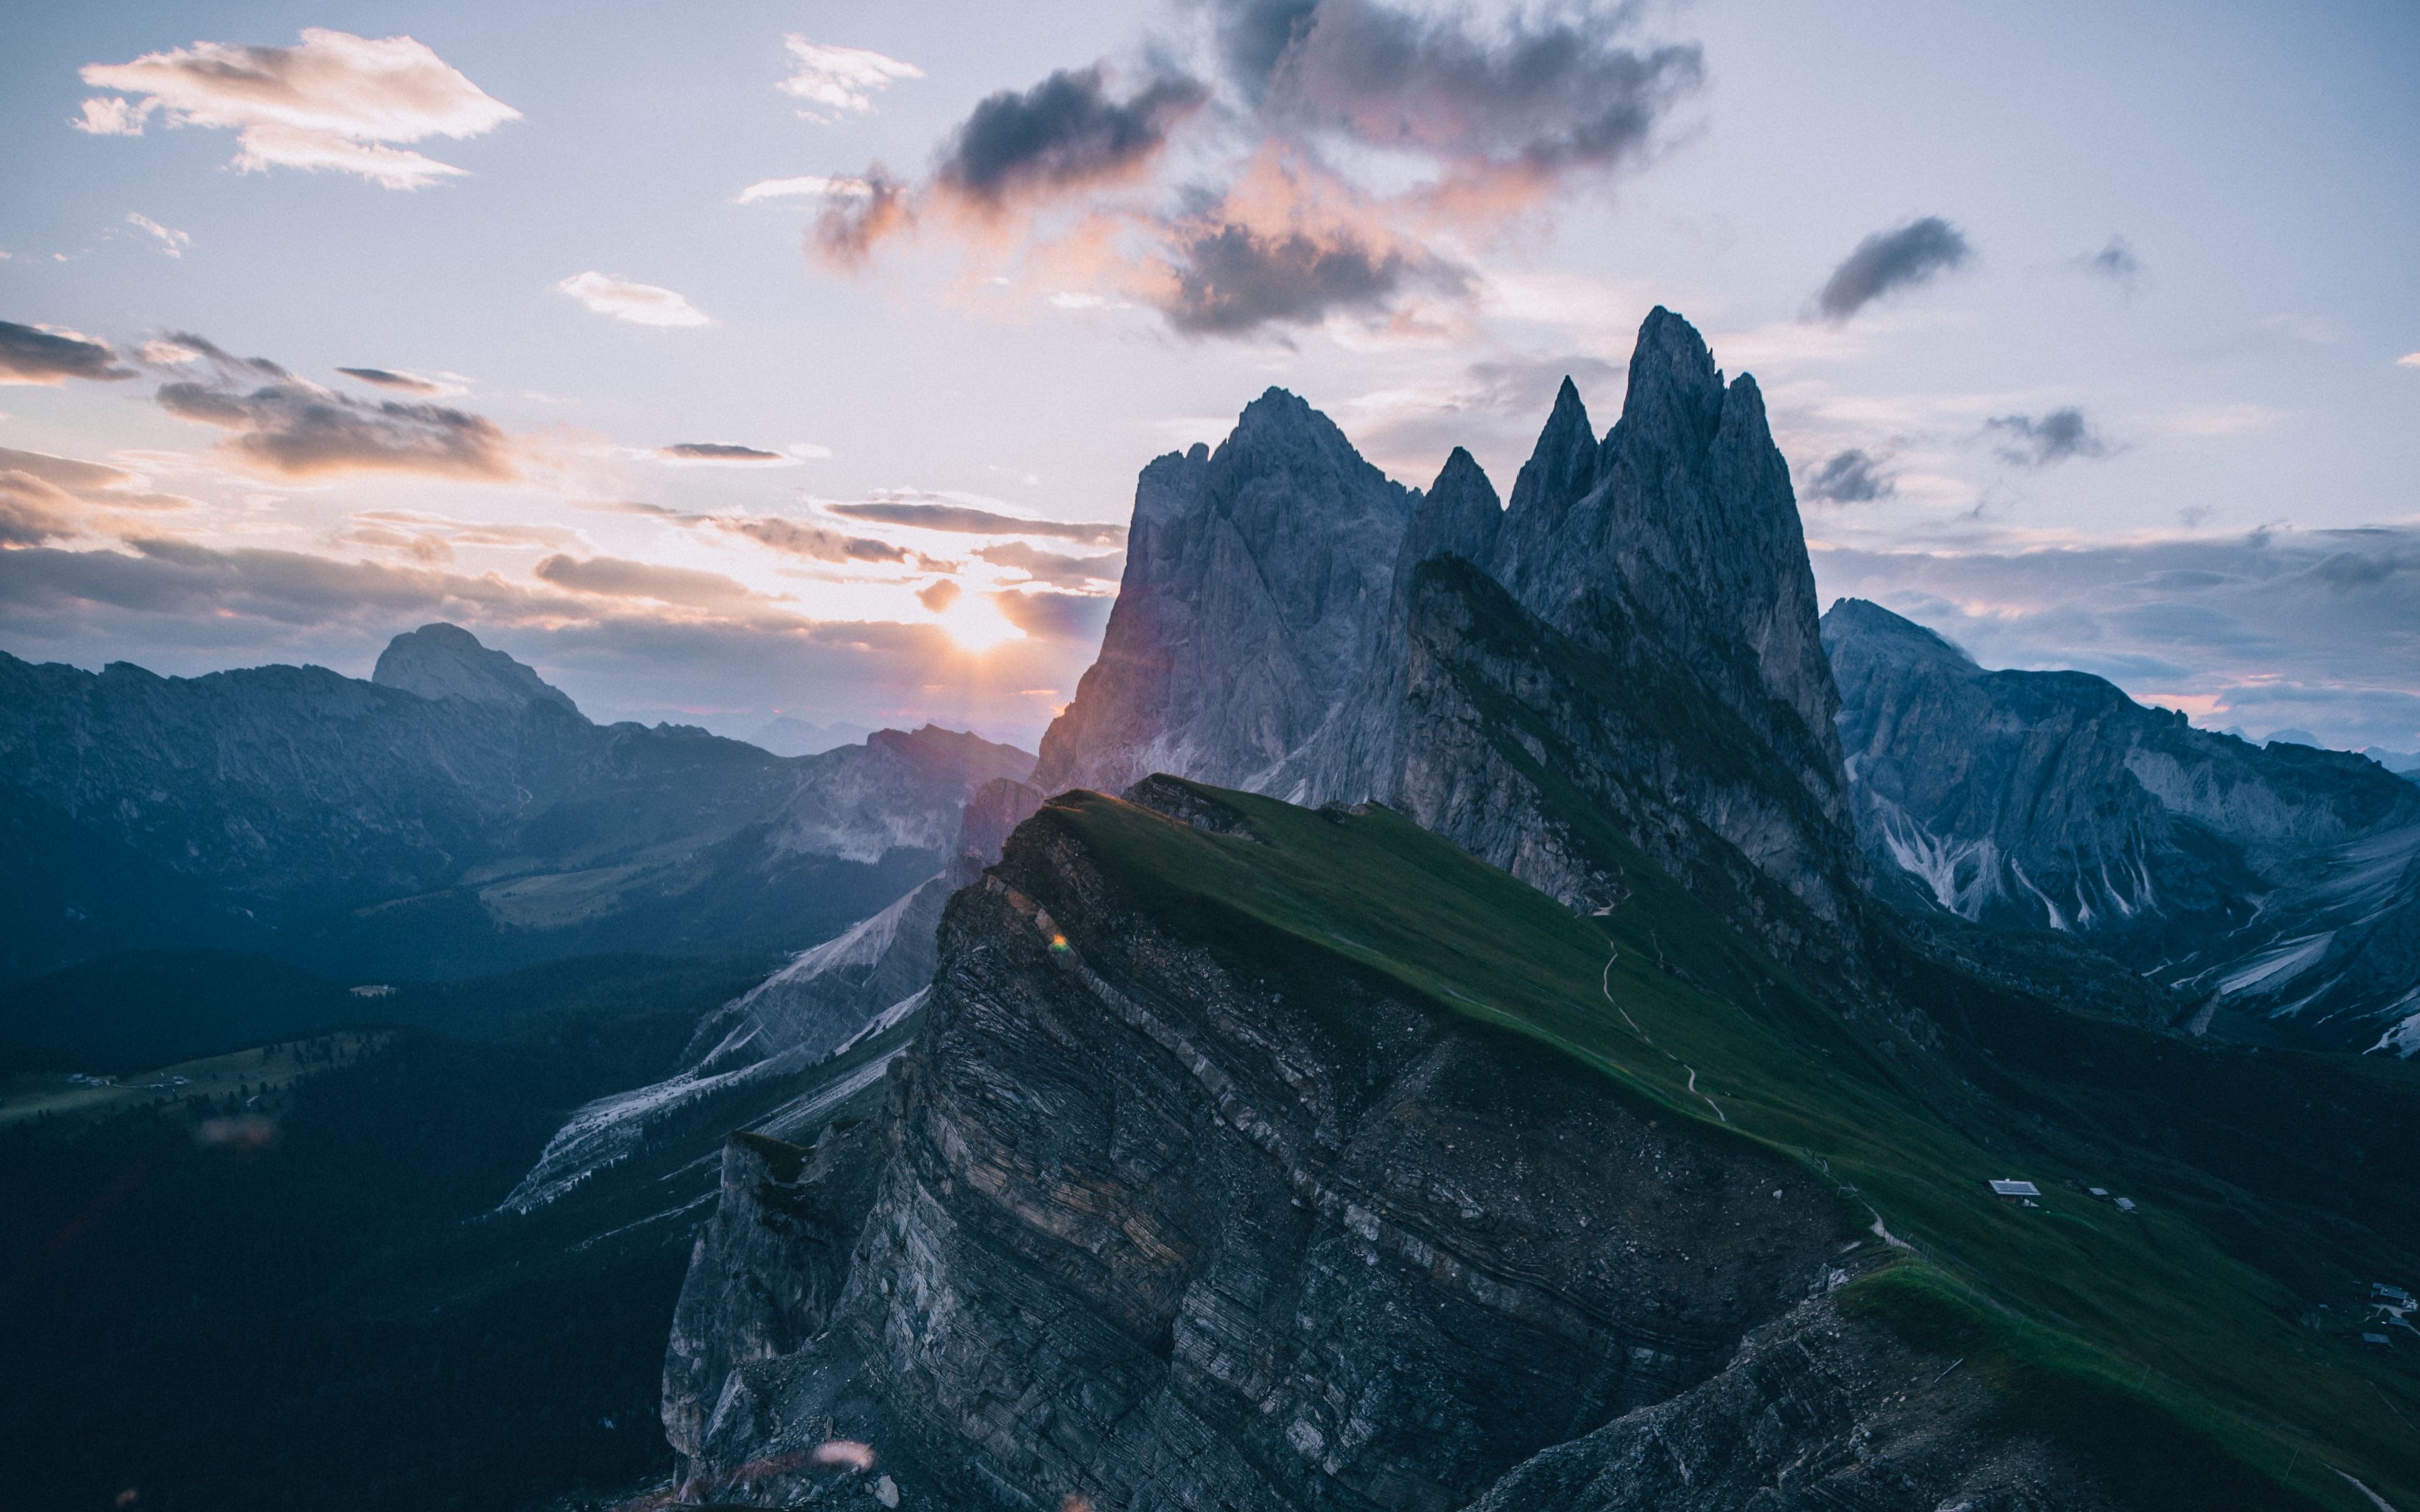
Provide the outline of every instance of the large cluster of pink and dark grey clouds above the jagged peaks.
[[1629,41],[1636,5],[1498,24],[1379,0],[1203,10],[1205,77],[1166,46],[1128,94],[1101,63],[1060,68],[983,99],[920,184],[881,165],[847,198],[799,181],[825,196],[808,254],[857,269],[934,225],[1060,307],[1147,305],[1234,339],[1348,314],[1341,341],[1435,341],[1467,324],[1479,244],[1643,157],[1704,80],[1696,46]]

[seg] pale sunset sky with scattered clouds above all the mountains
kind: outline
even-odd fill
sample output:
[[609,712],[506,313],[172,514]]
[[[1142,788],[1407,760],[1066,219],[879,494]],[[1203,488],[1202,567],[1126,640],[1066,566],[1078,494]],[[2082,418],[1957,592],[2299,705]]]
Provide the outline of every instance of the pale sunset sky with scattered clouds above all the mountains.
[[2420,750],[2420,10],[12,7],[0,651],[1031,745],[1135,472],[1764,387],[1825,602]]

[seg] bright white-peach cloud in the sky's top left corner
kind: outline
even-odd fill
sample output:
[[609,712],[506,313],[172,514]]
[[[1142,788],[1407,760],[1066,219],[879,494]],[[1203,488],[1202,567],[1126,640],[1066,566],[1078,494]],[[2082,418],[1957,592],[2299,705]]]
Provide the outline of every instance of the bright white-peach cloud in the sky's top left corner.
[[94,135],[143,135],[152,111],[169,126],[235,131],[235,167],[336,169],[387,189],[421,189],[465,169],[387,143],[469,138],[518,121],[409,36],[370,41],[305,27],[290,48],[196,41],[133,63],[87,63],[94,90],[75,123]]

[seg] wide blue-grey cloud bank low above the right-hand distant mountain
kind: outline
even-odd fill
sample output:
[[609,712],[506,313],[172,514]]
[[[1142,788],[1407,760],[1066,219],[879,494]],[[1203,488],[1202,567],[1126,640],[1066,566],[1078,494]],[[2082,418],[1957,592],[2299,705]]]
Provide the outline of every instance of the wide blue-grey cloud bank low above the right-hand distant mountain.
[[2098,673],[2205,728],[2420,745],[2420,527],[1813,559],[1825,600],[1871,598],[1987,668]]

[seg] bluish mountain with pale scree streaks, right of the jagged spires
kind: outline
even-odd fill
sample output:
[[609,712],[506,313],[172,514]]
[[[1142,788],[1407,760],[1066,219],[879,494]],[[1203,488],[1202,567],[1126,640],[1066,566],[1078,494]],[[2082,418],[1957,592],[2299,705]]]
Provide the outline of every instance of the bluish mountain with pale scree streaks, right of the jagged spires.
[[2195,1033],[2420,1050],[2410,781],[2086,673],[1987,673],[1863,600],[1822,631],[1859,832],[1902,902],[2091,943]]

